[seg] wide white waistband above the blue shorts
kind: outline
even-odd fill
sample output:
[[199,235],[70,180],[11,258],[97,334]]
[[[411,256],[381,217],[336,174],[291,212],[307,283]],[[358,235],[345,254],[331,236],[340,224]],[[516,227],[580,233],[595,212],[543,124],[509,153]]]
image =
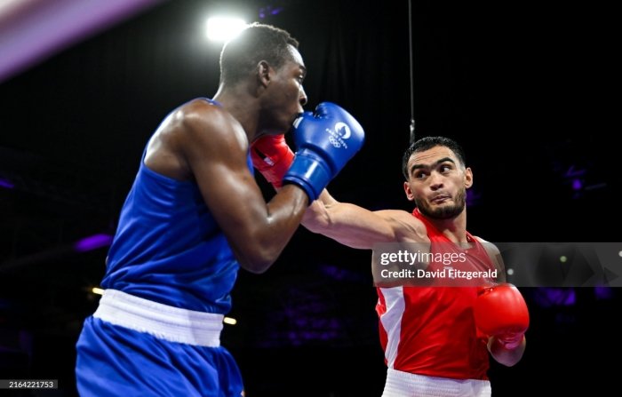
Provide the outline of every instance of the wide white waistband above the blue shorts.
[[167,306],[120,290],[105,290],[93,317],[171,342],[217,347],[224,316]]

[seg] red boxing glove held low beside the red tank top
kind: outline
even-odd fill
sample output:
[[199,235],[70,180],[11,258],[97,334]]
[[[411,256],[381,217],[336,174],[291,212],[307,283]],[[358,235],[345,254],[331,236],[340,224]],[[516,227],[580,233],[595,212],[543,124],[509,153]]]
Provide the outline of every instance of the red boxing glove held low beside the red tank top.
[[477,330],[497,337],[507,349],[522,342],[529,328],[529,310],[521,292],[509,283],[498,284],[480,291],[474,304]]

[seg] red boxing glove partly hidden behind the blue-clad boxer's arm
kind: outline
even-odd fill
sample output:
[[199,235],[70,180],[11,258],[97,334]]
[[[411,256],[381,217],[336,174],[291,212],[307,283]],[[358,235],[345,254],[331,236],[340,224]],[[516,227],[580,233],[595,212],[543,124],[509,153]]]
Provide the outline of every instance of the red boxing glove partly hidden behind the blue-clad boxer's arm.
[[294,152],[284,135],[264,135],[251,144],[252,165],[276,189],[283,187],[283,176],[290,169]]

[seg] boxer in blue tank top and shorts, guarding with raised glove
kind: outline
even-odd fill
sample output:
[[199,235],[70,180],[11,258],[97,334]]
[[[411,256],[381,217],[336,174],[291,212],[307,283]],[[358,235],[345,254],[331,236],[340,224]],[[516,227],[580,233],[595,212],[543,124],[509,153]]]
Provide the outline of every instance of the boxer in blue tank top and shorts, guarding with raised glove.
[[[274,263],[364,140],[335,104],[303,113],[305,75],[293,37],[252,24],[223,47],[213,99],[188,101],[156,129],[108,252],[100,306],[76,345],[80,395],[243,393],[219,343],[238,269],[262,273]],[[299,150],[266,202],[250,143],[291,128]]]

